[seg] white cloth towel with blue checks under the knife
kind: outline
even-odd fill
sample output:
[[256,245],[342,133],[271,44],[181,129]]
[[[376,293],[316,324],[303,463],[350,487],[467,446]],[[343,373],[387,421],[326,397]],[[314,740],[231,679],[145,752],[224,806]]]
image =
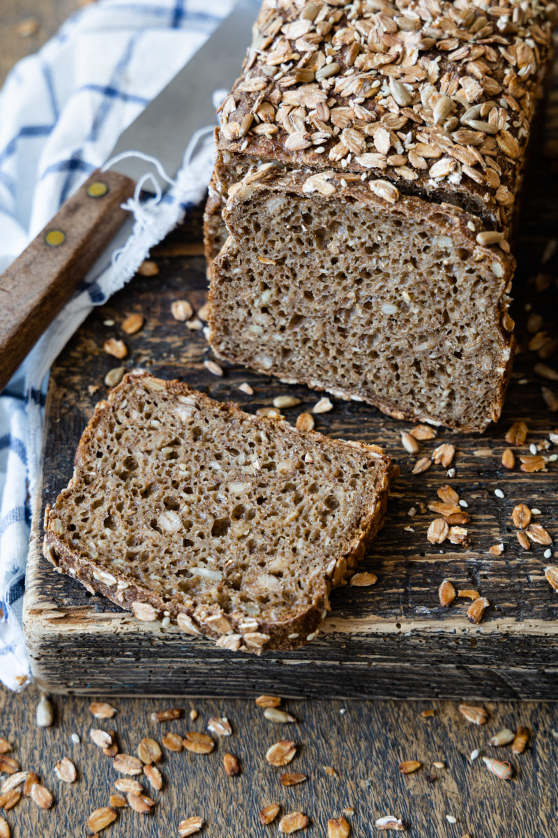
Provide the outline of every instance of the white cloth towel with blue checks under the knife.
[[[115,140],[202,45],[233,0],[99,0],[13,69],[0,92],[0,272],[104,163]],[[45,377],[91,306],[130,279],[202,198],[212,143],[192,151],[163,204],[136,207],[118,260],[93,266],[0,396],[0,680],[29,679],[22,605]],[[127,241],[126,241],[127,240]]]

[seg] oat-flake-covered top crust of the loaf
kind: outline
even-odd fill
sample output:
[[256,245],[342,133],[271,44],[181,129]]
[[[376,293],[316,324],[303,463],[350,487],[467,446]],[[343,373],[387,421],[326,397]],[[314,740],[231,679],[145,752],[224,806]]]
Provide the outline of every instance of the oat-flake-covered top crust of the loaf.
[[555,14],[547,0],[264,0],[220,147],[387,178],[507,232]]

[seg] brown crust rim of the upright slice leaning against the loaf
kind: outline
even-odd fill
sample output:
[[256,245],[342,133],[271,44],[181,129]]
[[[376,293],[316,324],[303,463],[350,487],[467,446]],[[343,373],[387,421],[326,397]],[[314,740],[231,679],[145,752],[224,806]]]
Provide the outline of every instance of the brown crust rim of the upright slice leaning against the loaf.
[[[303,195],[303,185],[305,180],[309,177],[310,173],[303,173],[300,171],[292,171],[288,174],[281,172],[278,177],[274,175],[272,169],[269,171],[269,173],[267,173],[267,175],[264,178],[261,178],[256,182],[251,182],[247,184],[246,192],[244,192],[243,189],[238,189],[238,191],[235,192],[233,197],[228,199],[228,202],[225,208],[223,209],[223,219],[226,220],[228,212],[235,204],[242,203],[243,200],[247,198],[250,199],[253,196],[253,194],[256,194],[262,189],[275,189],[284,193],[291,191],[295,194]],[[331,173],[331,181],[336,181],[338,178],[340,178],[340,175],[338,175],[337,173]],[[503,275],[500,278],[501,287],[503,289],[502,301],[503,305],[506,303],[506,295],[511,288],[511,282],[514,276],[514,257],[511,256],[511,254],[509,253],[501,251],[498,245],[480,246],[478,244],[478,242],[476,241],[476,235],[479,232],[482,232],[484,228],[476,216],[470,215],[464,212],[463,210],[454,207],[453,204],[428,204],[427,202],[422,201],[422,199],[414,196],[402,195],[397,200],[396,204],[388,204],[386,200],[380,198],[376,194],[373,194],[370,191],[367,183],[349,183],[346,186],[336,190],[331,197],[332,199],[339,200],[340,197],[345,196],[348,196],[351,199],[356,199],[361,203],[370,204],[372,210],[375,207],[381,209],[388,208],[392,212],[398,212],[400,213],[400,215],[407,216],[412,220],[422,220],[427,224],[433,226],[435,225],[438,227],[439,233],[452,235],[455,239],[457,239],[460,242],[460,244],[463,247],[472,248],[475,251],[479,251],[479,253],[481,253],[483,257],[487,260],[495,259],[496,261],[499,261],[499,264],[503,272]],[[306,195],[306,197],[308,197],[308,195]],[[469,224],[474,226],[474,230],[471,230],[471,228],[468,226]],[[210,246],[209,242],[208,246]],[[222,261],[223,259],[229,256],[230,250],[233,246],[233,238],[229,237],[228,241],[223,246],[221,252],[211,261],[208,268],[211,282],[209,290],[209,343],[212,346],[213,353],[216,354],[218,358],[226,360],[235,365],[245,365],[243,360],[234,355],[223,354],[218,347],[219,307],[215,304],[214,289],[219,281],[219,269],[222,264]],[[291,375],[285,376],[284,371],[274,370],[273,367],[271,369],[265,369],[263,366],[252,364],[250,365],[250,367],[253,370],[256,370],[257,372],[263,373],[264,375],[276,375],[285,381],[288,380],[289,383],[292,384],[307,385],[311,389],[318,391],[325,390],[327,392],[332,393],[332,395],[338,398],[346,399],[347,401],[366,401],[367,404],[371,404],[377,407],[378,410],[380,410],[382,413],[386,413],[388,416],[392,416],[394,419],[397,420],[407,420],[409,422],[428,422],[431,425],[443,425],[445,427],[450,427],[462,432],[482,433],[489,426],[490,422],[497,422],[499,419],[502,407],[504,406],[505,393],[509,384],[509,378],[511,376],[514,362],[514,350],[516,342],[513,332],[506,331],[504,329],[504,326],[502,325],[501,317],[503,313],[504,308],[502,308],[502,310],[499,312],[500,322],[498,326],[501,352],[499,361],[496,365],[504,371],[499,375],[499,380],[497,381],[497,384],[494,388],[494,398],[489,406],[489,414],[485,417],[484,422],[482,422],[478,426],[468,425],[463,422],[452,421],[446,418],[434,418],[433,416],[428,416],[427,414],[405,411],[397,405],[397,402],[387,401],[380,398],[364,399],[360,394],[351,391],[346,391],[343,388],[332,389],[330,382],[325,382],[319,379],[312,379],[309,377],[297,378]],[[496,324],[494,325],[496,326]]]

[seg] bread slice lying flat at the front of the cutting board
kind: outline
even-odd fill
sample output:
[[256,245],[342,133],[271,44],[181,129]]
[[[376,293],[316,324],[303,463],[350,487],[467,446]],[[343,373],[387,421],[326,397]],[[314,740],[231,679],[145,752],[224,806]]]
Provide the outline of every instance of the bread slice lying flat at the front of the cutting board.
[[381,526],[388,470],[377,447],[126,375],[47,507],[44,555],[140,619],[227,649],[293,649]]

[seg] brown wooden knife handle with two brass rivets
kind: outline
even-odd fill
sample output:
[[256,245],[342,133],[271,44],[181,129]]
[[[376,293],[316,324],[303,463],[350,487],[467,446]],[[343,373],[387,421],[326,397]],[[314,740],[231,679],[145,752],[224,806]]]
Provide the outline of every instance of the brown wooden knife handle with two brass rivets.
[[135,186],[97,169],[0,276],[0,391],[130,216]]

